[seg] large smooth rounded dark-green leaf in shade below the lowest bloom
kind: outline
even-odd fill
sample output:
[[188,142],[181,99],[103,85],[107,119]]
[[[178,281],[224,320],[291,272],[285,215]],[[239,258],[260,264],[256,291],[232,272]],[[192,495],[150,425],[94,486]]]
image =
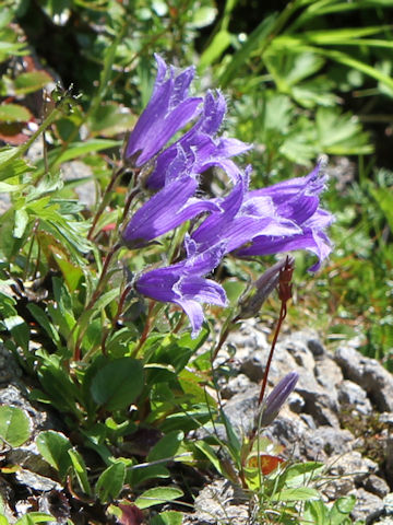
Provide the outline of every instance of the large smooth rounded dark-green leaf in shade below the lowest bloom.
[[104,365],[93,377],[91,394],[107,410],[127,408],[141,394],[144,385],[140,361],[121,358]]

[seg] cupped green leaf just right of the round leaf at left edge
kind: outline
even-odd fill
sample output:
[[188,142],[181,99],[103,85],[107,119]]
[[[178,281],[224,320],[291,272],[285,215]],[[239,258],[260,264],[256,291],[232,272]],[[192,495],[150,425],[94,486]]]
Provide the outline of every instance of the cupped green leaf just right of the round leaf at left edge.
[[36,445],[44,459],[59,472],[61,479],[64,479],[72,466],[69,455],[72,445],[68,438],[60,432],[47,430],[37,435]]

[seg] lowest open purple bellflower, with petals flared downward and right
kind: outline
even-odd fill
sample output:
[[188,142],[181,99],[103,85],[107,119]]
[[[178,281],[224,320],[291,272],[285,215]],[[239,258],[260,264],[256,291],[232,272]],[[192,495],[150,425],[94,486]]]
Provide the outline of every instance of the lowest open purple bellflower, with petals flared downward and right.
[[156,301],[178,304],[189,316],[192,334],[196,337],[204,319],[201,303],[226,305],[224,289],[203,276],[216,268],[223,256],[223,246],[214,246],[203,254],[188,254],[175,265],[143,273],[135,282],[139,293]]

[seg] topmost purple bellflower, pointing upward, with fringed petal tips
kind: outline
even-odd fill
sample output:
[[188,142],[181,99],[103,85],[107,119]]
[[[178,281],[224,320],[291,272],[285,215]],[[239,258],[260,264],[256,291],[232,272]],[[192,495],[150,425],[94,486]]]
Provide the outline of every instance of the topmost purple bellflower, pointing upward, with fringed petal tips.
[[202,98],[189,97],[188,91],[194,77],[194,68],[177,73],[154,55],[157,77],[152,97],[132,130],[124,156],[136,167],[156,155],[179,129],[199,113]]

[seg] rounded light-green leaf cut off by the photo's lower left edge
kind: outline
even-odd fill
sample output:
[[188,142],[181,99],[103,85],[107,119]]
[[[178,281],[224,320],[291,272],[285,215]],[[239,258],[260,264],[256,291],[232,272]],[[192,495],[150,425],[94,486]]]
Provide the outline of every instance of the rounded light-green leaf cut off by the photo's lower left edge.
[[31,436],[31,420],[16,407],[0,407],[0,438],[11,446],[21,446]]

